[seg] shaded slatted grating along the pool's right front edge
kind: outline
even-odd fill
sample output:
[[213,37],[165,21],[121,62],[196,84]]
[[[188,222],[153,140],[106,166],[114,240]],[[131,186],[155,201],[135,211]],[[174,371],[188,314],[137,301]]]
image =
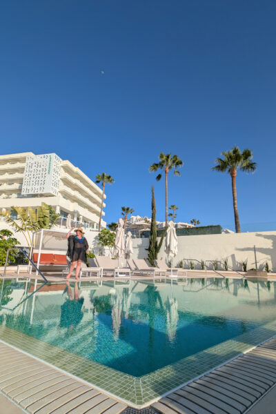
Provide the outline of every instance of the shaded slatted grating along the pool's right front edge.
[[275,384],[273,338],[166,395],[152,408],[162,414],[250,414],[250,406]]

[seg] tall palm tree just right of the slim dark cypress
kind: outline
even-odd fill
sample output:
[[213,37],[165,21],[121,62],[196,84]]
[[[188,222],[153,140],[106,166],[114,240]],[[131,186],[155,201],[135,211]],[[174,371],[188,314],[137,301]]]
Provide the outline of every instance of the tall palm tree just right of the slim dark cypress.
[[[183,161],[177,155],[171,156],[171,152],[165,155],[163,152],[159,155],[159,162],[152,164],[150,166],[150,172],[163,170],[165,172],[165,193],[166,193],[166,226],[168,226],[168,172],[174,169],[173,174],[180,176],[178,168],[183,166]],[[161,179],[161,173],[157,175],[156,179],[159,181]]]

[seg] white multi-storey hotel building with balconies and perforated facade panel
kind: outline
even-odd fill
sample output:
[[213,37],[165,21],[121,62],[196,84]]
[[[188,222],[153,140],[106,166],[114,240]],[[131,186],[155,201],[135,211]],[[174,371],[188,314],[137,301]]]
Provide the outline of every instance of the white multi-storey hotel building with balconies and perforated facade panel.
[[[44,201],[60,213],[59,227],[65,228],[70,213],[72,226],[95,232],[101,196],[99,186],[70,161],[63,161],[56,154],[0,155],[1,210],[10,210],[12,206],[36,208]],[[103,208],[105,206],[103,203]],[[105,227],[106,222],[102,220],[101,225]],[[8,228],[7,224],[1,223],[1,228]]]

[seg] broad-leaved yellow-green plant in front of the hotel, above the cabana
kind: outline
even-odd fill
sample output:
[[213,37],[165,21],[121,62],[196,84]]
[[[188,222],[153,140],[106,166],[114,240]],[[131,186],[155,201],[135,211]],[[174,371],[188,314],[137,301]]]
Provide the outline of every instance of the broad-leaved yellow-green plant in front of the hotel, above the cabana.
[[[17,219],[11,217],[13,212],[17,213]],[[59,218],[59,214],[46,203],[41,203],[37,211],[32,207],[12,207],[10,211],[2,211],[0,216],[10,224],[15,233],[22,233],[30,248],[32,245],[32,232],[41,228],[52,228]]]

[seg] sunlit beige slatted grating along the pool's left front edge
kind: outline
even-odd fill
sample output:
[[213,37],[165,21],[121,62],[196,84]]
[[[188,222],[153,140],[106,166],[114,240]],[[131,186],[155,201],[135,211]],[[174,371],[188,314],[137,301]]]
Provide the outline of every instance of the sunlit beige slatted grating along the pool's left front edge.
[[30,414],[119,414],[127,407],[1,342],[0,391]]

